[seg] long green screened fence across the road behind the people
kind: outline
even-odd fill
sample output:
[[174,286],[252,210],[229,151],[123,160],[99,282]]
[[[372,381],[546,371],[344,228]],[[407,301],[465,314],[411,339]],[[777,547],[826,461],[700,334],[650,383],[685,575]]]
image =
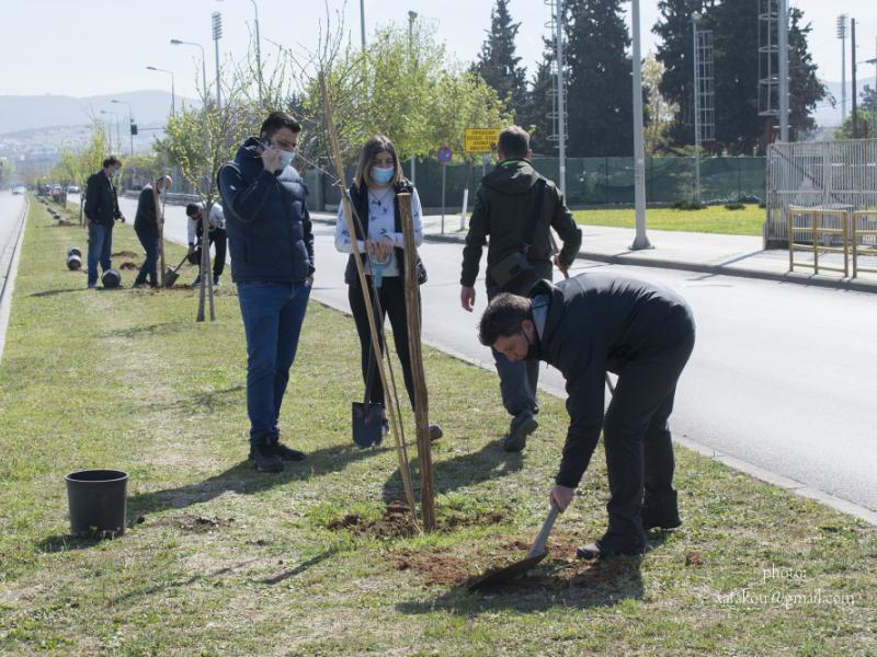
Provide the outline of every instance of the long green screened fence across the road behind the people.
[[[545,176],[556,181],[558,159],[534,157],[533,165]],[[406,175],[410,176],[409,162],[403,162]],[[475,189],[491,164],[474,166],[447,165],[445,181],[445,206],[459,210],[463,191],[469,188],[469,208],[475,199]],[[442,206],[442,165],[434,159],[417,162],[417,187],[421,203],[428,208]],[[351,178],[353,170],[348,173]],[[647,158],[646,200],[650,204],[669,205],[675,200],[692,200],[694,197],[694,158]],[[764,199],[764,158],[707,158],[701,160],[701,197],[706,203],[737,199],[761,201]],[[308,172],[305,182],[310,188],[311,209],[324,206],[337,207],[340,197],[329,178]],[[633,158],[568,158],[567,204],[570,206],[634,205]]]

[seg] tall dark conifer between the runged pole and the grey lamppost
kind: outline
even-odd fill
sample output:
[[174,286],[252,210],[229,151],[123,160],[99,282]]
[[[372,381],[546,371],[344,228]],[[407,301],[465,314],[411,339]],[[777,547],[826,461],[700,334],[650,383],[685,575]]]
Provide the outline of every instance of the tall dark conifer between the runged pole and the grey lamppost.
[[622,0],[570,0],[567,11],[567,154],[630,155],[633,67]]

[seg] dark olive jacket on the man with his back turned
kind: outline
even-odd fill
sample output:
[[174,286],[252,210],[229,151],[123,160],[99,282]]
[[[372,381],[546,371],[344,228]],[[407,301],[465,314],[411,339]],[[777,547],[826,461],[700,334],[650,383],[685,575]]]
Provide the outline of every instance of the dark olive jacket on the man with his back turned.
[[545,180],[542,220],[536,224],[533,247],[527,261],[536,267],[538,278],[551,278],[551,243],[548,227],[551,226],[563,247],[560,261],[569,266],[582,245],[582,231],[576,226],[572,215],[563,204],[563,196],[555,184],[544,178],[527,160],[505,160],[481,178],[475,197],[475,209],[469,219],[469,232],[463,250],[463,274],[460,284],[472,287],[478,277],[481,251],[490,237],[487,250],[487,286],[494,281],[490,268],[503,257],[521,251],[532,221],[532,207],[536,197],[536,182]]

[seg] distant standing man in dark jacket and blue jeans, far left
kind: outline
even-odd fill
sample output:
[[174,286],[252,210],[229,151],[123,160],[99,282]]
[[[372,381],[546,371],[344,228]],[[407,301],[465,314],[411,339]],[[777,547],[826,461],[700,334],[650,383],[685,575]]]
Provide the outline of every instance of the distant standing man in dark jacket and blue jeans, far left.
[[113,224],[116,219],[125,221],[118,209],[118,197],[113,178],[122,171],[122,161],[110,155],[103,161],[103,170],[89,176],[86,186],[86,226],[89,229],[89,287],[98,286],[98,262],[106,272],[113,267]]

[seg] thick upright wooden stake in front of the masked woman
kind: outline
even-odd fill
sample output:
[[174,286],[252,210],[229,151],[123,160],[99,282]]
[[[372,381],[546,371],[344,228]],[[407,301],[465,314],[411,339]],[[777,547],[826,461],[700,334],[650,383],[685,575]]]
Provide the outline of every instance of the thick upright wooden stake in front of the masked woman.
[[423,370],[421,349],[421,310],[418,285],[418,249],[414,244],[414,222],[411,217],[411,195],[400,193],[399,215],[405,238],[405,311],[408,320],[408,350],[411,358],[411,376],[414,379],[414,424],[420,460],[420,508],[423,528],[435,529],[435,502],[433,493],[432,442],[430,440],[430,404],[426,395],[426,374]]

